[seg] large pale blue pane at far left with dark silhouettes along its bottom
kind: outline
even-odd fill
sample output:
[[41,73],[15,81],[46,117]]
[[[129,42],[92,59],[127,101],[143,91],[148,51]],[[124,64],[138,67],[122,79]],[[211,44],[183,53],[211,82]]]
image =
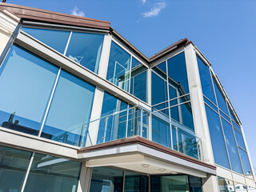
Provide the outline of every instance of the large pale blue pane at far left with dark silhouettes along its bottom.
[[0,69],[0,125],[38,135],[58,68],[12,46]]

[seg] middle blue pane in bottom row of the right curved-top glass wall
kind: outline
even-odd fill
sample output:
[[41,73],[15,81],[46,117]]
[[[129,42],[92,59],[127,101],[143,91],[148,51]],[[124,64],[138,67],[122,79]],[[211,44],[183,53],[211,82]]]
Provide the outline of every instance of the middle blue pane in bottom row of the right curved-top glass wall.
[[222,127],[224,130],[224,135],[226,138],[226,147],[230,155],[230,164],[232,167],[232,170],[235,172],[238,172],[239,174],[242,174],[242,166],[238,155],[238,147],[234,140],[234,133],[232,126],[230,123],[226,122],[222,118]]

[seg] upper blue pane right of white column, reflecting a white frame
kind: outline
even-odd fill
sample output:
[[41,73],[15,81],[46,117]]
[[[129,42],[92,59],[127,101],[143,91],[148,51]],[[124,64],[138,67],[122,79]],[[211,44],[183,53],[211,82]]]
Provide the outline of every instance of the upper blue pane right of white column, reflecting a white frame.
[[130,54],[118,46],[111,43],[110,59],[107,69],[106,79],[123,90],[129,90],[130,78]]

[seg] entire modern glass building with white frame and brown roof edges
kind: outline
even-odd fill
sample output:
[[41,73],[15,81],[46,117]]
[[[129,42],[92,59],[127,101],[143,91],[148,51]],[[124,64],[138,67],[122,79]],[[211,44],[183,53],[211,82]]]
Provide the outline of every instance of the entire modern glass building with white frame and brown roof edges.
[[0,191],[256,191],[242,124],[182,39],[0,3]]

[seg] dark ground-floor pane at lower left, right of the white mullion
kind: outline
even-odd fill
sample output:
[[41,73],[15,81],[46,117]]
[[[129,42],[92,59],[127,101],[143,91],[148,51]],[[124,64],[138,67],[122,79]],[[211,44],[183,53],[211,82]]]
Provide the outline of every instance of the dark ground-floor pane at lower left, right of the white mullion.
[[80,169],[81,162],[35,154],[24,191],[76,191]]

